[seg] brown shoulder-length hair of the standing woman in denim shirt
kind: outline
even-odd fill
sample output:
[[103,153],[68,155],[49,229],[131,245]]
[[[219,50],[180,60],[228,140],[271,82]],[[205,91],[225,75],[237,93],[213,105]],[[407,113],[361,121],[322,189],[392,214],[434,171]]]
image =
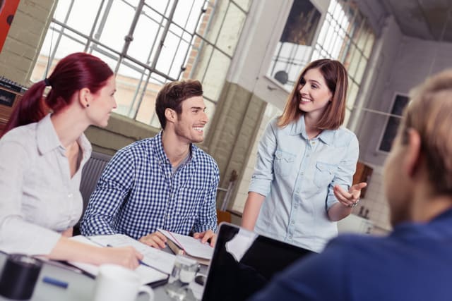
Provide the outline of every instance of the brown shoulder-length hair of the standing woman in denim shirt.
[[319,69],[320,73],[325,78],[328,89],[333,94],[333,99],[328,102],[327,108],[316,128],[321,130],[335,130],[344,123],[345,118],[345,101],[347,99],[347,70],[340,61],[331,59],[319,59],[312,61],[300,73],[297,83],[294,85],[292,92],[290,92],[287,103],[283,111],[283,115],[278,118],[278,126],[285,127],[289,123],[297,121],[302,116],[303,111],[299,109],[299,89],[304,75],[310,69]]

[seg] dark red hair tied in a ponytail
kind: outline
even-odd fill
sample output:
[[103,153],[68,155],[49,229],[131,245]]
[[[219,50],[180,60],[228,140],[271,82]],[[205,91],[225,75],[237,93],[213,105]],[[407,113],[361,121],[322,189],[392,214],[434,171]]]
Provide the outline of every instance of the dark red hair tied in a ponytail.
[[[97,56],[84,52],[69,54],[57,63],[49,78],[36,82],[23,94],[0,137],[20,125],[40,121],[50,110],[57,113],[83,88],[95,94],[112,75],[112,69]],[[47,85],[52,89],[47,97],[43,97]]]

